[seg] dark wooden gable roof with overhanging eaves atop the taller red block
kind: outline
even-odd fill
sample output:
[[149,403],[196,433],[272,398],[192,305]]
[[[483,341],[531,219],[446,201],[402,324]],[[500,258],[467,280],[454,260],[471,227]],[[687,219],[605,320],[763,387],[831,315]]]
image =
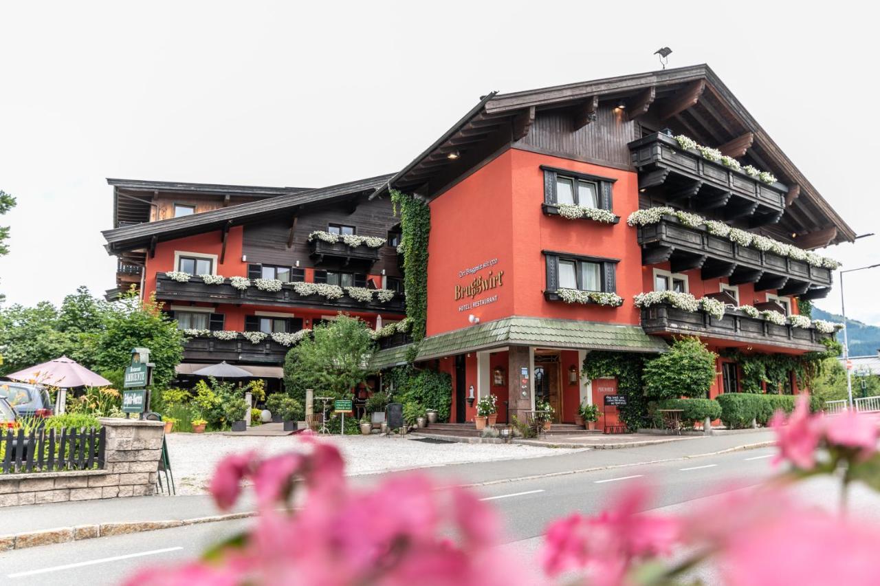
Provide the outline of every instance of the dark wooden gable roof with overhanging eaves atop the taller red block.
[[[442,193],[474,165],[525,136],[536,111],[580,108],[589,115],[600,101],[620,99],[626,99],[627,113],[645,114],[654,108],[661,119],[675,121],[694,139],[736,153],[732,156],[747,153],[756,166],[773,172],[788,187],[786,220],[803,235],[803,247],[854,239],[853,229],[705,64],[525,92],[490,93],[374,196],[389,187],[429,197]],[[450,158],[453,151],[457,157]]]

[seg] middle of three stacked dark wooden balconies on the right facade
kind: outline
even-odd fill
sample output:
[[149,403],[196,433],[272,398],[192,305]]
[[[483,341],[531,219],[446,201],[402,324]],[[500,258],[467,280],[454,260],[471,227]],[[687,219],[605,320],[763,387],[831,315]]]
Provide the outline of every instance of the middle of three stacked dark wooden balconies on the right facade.
[[669,261],[673,273],[700,268],[704,280],[723,276],[731,285],[753,282],[756,291],[777,289],[779,295],[801,299],[825,297],[831,290],[828,268],[737,245],[709,234],[705,227],[683,225],[675,216],[664,216],[638,231],[643,265]]

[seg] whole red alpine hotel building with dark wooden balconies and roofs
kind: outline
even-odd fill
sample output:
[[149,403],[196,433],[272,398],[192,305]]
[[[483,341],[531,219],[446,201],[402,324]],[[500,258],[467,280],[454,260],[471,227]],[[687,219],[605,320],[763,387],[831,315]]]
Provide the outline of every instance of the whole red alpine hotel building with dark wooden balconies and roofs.
[[[601,408],[617,385],[581,379],[591,350],[658,353],[689,334],[715,351],[822,351],[833,333],[798,303],[825,297],[836,265],[808,251],[854,239],[706,65],[493,92],[400,172],[333,187],[108,181],[117,288],[155,292],[190,331],[181,376],[226,360],[281,377],[320,320],[403,319],[389,194],[428,201],[416,362],[451,374],[459,422],[489,392],[510,412],[548,400],[561,422]],[[662,291],[698,303],[642,295]],[[380,340],[375,369],[404,363],[407,342]],[[717,370],[711,396],[737,392],[737,363]]]

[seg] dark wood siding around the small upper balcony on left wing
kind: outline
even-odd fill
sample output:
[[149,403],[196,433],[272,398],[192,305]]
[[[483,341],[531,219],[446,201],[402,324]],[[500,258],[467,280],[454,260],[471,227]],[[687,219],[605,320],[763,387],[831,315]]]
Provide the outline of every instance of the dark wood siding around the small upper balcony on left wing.
[[[300,268],[314,267],[308,242],[312,231],[326,231],[329,223],[343,223],[355,226],[358,236],[387,238],[392,226],[400,222],[400,218],[392,215],[391,200],[387,197],[372,201],[362,199],[354,211],[351,211],[347,203],[305,209],[297,214],[293,246],[288,248],[292,220],[292,216],[278,217],[260,223],[246,224],[242,252],[247,255],[247,262],[293,267],[299,260]],[[324,270],[344,268],[348,272],[360,271],[371,275],[378,275],[382,269],[385,269],[386,275],[400,275],[397,251],[389,245],[379,249],[379,260],[372,267],[353,265],[342,267],[341,261],[327,258],[319,264],[319,268]]]

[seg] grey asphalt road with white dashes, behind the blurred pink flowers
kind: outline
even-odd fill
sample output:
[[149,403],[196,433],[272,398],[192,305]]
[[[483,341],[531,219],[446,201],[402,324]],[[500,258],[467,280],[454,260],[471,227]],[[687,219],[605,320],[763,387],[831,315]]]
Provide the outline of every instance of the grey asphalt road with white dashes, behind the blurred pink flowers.
[[[603,509],[627,480],[647,480],[656,490],[652,508],[683,505],[759,483],[773,474],[773,449],[660,464],[627,466],[478,487],[506,524],[511,546],[539,541],[546,524],[573,511]],[[476,464],[474,466],[479,466]],[[241,531],[253,520],[192,525],[113,538],[98,538],[0,554],[0,583],[65,586],[121,583],[137,568],[192,559],[206,546]]]

